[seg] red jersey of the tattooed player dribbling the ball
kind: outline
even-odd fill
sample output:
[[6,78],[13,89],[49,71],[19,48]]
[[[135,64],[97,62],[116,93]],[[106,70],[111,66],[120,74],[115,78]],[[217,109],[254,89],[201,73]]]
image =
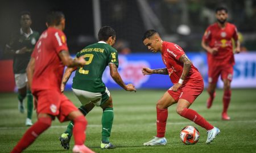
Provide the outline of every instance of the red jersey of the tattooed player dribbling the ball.
[[[185,54],[183,49],[180,46],[164,41],[162,48],[162,59],[164,64],[167,67],[168,74],[172,83],[178,83],[180,76],[183,71],[183,63],[179,61],[179,58]],[[191,69],[189,70],[189,74],[185,78],[183,85],[186,84],[189,80],[202,80],[201,74],[196,69],[196,67],[191,64]]]

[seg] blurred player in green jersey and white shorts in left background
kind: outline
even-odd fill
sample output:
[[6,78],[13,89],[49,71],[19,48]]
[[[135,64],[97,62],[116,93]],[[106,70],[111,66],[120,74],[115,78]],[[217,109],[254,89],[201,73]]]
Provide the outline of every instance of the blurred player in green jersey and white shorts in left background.
[[39,39],[39,33],[32,31],[30,12],[24,11],[20,14],[19,31],[11,36],[10,41],[6,44],[6,53],[13,54],[13,72],[15,76],[16,87],[18,88],[18,109],[24,113],[23,100],[27,96],[27,119],[26,125],[31,126],[31,117],[33,111],[33,96],[27,87],[26,68],[30,61],[30,56],[34,50],[36,41]]

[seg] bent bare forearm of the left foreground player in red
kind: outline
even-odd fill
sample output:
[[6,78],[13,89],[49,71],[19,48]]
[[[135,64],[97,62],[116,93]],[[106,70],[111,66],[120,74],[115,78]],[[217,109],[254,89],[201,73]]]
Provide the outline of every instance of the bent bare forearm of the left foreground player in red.
[[59,53],[59,57],[63,64],[67,67],[77,67],[77,66],[84,66],[85,60],[84,57],[79,57],[72,59],[72,57],[69,55],[69,52],[67,50],[61,50]]

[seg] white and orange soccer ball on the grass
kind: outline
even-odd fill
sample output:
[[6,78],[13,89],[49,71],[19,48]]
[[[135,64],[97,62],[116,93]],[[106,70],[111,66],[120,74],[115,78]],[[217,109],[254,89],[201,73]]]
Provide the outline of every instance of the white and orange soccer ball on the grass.
[[193,145],[199,141],[199,130],[193,126],[186,126],[180,131],[180,139],[185,145]]

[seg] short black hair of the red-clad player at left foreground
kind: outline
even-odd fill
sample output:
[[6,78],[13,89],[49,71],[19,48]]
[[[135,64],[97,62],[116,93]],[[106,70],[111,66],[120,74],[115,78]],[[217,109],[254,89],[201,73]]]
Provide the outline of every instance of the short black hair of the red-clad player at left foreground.
[[49,11],[46,17],[48,25],[59,25],[61,19],[65,18],[65,15],[61,11]]

